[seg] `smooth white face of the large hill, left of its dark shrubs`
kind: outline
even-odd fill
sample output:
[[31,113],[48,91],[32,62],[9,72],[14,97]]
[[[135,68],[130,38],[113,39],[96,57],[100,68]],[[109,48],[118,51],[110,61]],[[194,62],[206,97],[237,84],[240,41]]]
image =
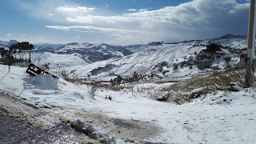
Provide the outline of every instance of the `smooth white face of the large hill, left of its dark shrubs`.
[[130,76],[136,71],[138,74],[150,73],[154,71],[159,63],[167,62],[168,66],[181,62],[182,57],[189,56],[195,52],[205,49],[204,46],[195,46],[194,42],[179,43],[177,45],[166,44],[163,46],[142,46],[137,53],[127,55],[122,58],[111,58],[106,61],[94,62],[86,66],[72,66],[71,70],[76,70],[76,74],[90,74],[91,70],[98,67],[112,65],[112,69],[102,71],[97,77],[106,77],[110,73]]

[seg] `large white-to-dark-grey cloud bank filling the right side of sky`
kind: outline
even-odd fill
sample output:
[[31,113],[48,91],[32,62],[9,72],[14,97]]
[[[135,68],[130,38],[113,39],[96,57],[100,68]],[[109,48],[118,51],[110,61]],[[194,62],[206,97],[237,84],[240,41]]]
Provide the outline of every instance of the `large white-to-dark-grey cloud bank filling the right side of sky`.
[[150,39],[198,39],[246,34],[248,10],[249,3],[239,4],[235,0],[194,0],[159,10],[130,9],[126,14],[80,15],[66,17],[66,21],[148,31]]

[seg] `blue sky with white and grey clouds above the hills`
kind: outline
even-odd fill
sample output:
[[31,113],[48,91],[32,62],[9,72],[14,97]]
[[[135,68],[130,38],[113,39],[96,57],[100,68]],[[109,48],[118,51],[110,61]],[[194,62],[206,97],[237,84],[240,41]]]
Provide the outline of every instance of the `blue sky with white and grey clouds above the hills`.
[[112,45],[246,34],[249,0],[1,0],[0,40]]

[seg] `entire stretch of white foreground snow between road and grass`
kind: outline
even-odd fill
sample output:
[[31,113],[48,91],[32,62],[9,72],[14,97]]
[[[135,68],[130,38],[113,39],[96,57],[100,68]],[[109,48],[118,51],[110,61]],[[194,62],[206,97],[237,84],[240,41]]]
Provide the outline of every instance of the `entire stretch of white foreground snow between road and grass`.
[[178,106],[128,91],[98,90],[92,98],[86,86],[74,86],[50,75],[28,77],[25,70],[11,66],[8,73],[8,67],[0,65],[0,90],[35,106],[67,106],[154,123],[161,130],[148,139],[151,142],[256,142],[256,99],[252,88],[232,93],[217,91]]

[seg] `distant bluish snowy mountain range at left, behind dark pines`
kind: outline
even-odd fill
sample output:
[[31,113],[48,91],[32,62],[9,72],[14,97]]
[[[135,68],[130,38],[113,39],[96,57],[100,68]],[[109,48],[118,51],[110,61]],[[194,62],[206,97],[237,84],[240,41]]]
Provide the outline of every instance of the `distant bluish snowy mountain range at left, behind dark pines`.
[[[0,41],[0,47],[8,48],[11,44],[17,43],[15,40],[10,42]],[[129,46],[128,46],[129,47]],[[132,54],[126,46],[110,46],[105,43],[91,44],[91,43],[69,43],[62,44],[34,44],[32,53],[50,52],[55,54],[77,54],[88,63],[98,62],[109,58],[120,58]]]

